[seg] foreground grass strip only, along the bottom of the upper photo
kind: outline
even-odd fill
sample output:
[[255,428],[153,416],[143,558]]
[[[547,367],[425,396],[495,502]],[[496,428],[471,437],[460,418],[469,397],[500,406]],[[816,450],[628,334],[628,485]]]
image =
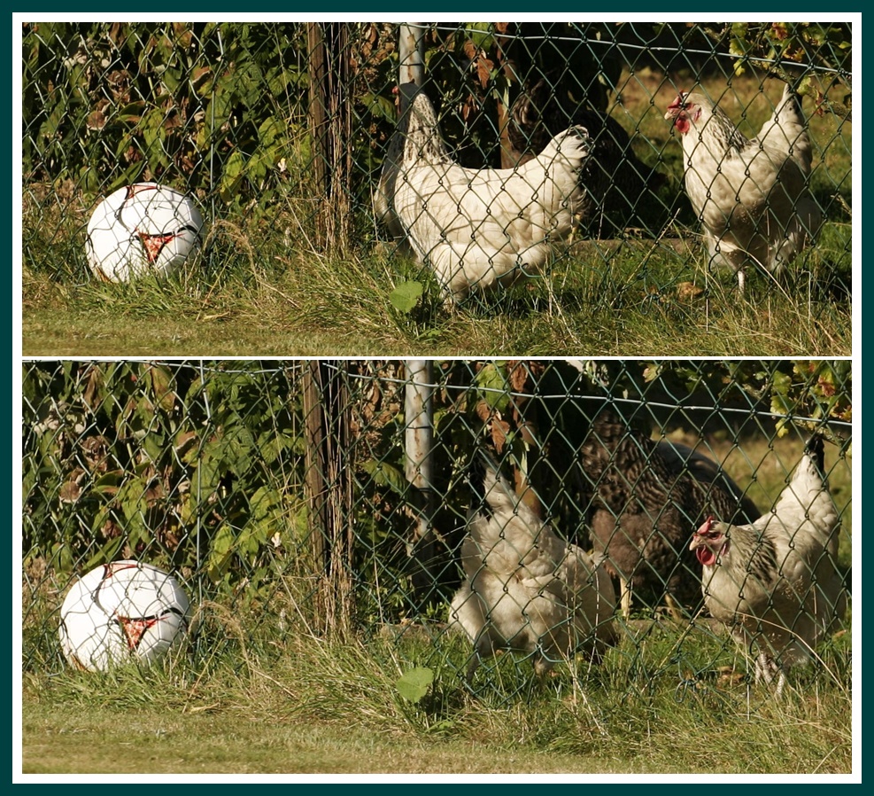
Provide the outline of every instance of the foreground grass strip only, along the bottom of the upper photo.
[[[266,256],[267,252],[262,252]],[[753,280],[743,299],[705,269],[654,254],[609,265],[563,259],[551,281],[491,306],[447,313],[437,285],[406,261],[275,253],[282,268],[226,263],[230,276],[131,285],[58,282],[27,270],[22,353],[76,355],[586,355],[852,353],[852,308],[800,279],[797,294]],[[676,260],[676,255],[673,255]],[[699,263],[700,265],[700,263]],[[410,312],[391,292],[425,285]]]

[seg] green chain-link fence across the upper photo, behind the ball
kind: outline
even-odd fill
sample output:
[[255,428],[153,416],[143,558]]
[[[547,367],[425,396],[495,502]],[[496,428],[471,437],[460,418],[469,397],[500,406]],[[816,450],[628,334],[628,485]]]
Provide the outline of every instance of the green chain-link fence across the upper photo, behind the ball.
[[[803,75],[813,158],[804,191],[826,224],[801,269],[849,278],[848,24],[410,24],[453,162],[522,168],[559,130],[587,129],[588,204],[562,237],[570,254],[605,272],[623,258],[654,257],[679,272],[703,256],[700,209],[686,195],[684,155],[665,119],[677,90],[699,86],[752,137],[784,85],[767,71]],[[252,247],[272,261],[271,240],[393,248],[374,202],[398,122],[399,27],[24,24],[25,265],[89,278],[89,214],[137,181],[197,200],[208,274]]]

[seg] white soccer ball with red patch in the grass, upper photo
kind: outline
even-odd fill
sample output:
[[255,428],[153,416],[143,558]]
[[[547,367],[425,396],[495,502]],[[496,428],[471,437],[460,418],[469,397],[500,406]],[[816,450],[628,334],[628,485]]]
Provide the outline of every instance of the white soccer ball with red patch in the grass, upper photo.
[[128,185],[91,214],[88,264],[109,282],[171,274],[200,249],[203,229],[203,215],[184,193],[158,183]]

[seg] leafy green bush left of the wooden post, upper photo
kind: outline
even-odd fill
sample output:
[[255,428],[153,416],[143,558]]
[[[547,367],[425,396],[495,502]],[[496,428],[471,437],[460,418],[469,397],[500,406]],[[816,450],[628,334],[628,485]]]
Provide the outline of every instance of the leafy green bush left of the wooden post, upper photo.
[[[257,23],[26,25],[24,174],[86,197],[137,180],[229,207],[276,199],[301,152],[300,28]],[[283,170],[277,168],[286,163]],[[299,168],[301,164],[297,164]]]

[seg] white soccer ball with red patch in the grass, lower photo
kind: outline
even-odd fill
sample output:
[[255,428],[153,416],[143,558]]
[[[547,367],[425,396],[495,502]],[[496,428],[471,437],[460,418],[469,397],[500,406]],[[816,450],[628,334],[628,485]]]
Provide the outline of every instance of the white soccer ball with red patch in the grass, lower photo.
[[134,661],[151,664],[179,644],[189,598],[175,578],[150,564],[113,561],[73,583],[61,605],[61,650],[90,672]]

